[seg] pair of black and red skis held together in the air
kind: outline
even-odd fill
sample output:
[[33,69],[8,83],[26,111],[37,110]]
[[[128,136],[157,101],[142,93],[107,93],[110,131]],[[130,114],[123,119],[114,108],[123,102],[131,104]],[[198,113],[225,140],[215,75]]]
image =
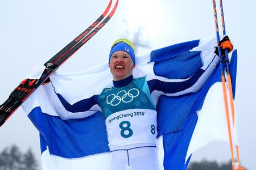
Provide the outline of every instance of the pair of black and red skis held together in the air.
[[[84,32],[71,41],[67,46],[60,50],[55,56],[53,56],[49,61],[47,61],[44,66],[42,76],[39,79],[26,79],[19,84],[18,87],[11,93],[9,99],[0,105],[0,126],[2,126],[7,119],[19,108],[19,106],[34,92],[41,84],[43,84],[48,77],[57,70],[69,57],[72,56],[82,45],[89,41],[104,25],[112,18],[114,12],[118,6],[118,0],[115,2],[114,8],[110,14],[100,22],[108,13],[111,6],[112,0],[104,13],[94,22],[90,27],[88,27]],[[94,29],[93,29],[94,28]]]

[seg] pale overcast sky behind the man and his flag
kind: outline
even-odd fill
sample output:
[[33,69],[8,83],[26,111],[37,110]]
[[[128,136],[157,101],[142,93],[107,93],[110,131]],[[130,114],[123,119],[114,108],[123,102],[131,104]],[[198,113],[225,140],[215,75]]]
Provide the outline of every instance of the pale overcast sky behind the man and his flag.
[[[234,40],[239,57],[236,107],[240,156],[242,165],[253,170],[256,152],[256,56],[253,52],[256,2],[223,0],[223,3],[226,32]],[[97,19],[107,5],[108,1],[102,0],[0,1],[0,103],[36,63],[48,61]],[[143,36],[150,42],[151,49],[216,36],[212,1],[120,0],[110,22],[58,71],[81,71],[105,62],[112,42],[129,36],[126,21],[129,31],[138,24],[146,27]],[[138,53],[147,50],[139,49]],[[22,151],[31,147],[40,159],[39,133],[21,108],[0,128],[0,151],[12,144]],[[192,161],[203,158],[218,162],[229,160],[228,143],[210,144],[195,152]]]

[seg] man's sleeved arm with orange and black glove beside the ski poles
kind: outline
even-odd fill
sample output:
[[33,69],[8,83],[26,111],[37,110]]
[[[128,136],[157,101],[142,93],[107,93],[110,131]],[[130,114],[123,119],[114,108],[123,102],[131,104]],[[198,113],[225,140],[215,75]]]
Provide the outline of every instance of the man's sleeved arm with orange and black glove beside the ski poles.
[[[227,36],[218,43],[218,46],[221,50],[228,49],[229,52],[233,50],[233,45]],[[216,51],[213,52],[214,51],[210,52],[210,50],[206,50],[204,54],[201,53],[203,66],[187,79],[168,79],[156,75],[148,76],[147,82],[150,92],[154,92],[156,96],[179,96],[199,91],[218,65],[219,57],[217,56]]]

